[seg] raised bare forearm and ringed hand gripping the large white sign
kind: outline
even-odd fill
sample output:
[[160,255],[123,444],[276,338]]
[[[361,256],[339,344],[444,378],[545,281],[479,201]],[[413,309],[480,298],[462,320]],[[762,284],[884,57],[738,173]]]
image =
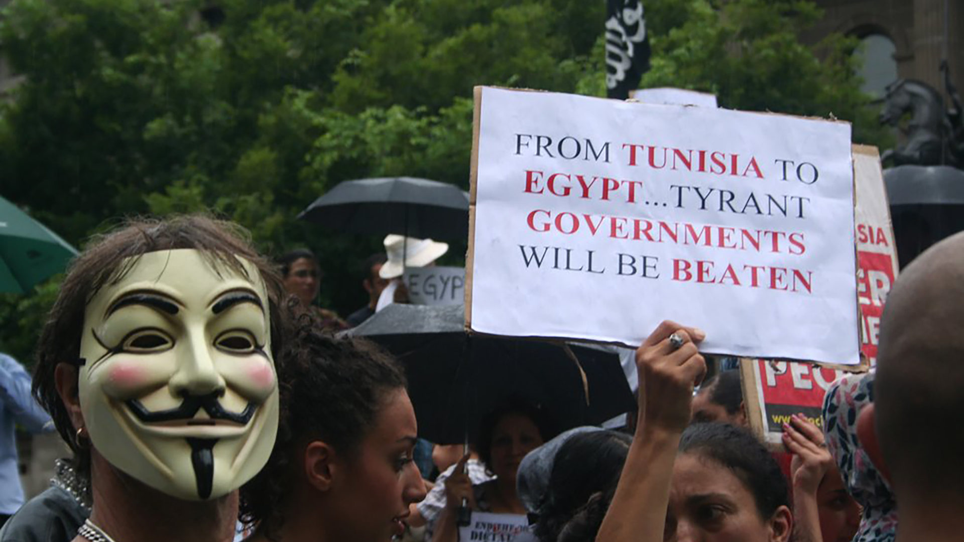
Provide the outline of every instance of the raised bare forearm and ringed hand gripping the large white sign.
[[639,423],[597,542],[662,541],[673,462],[707,370],[696,346],[705,337],[667,320],[636,350]]

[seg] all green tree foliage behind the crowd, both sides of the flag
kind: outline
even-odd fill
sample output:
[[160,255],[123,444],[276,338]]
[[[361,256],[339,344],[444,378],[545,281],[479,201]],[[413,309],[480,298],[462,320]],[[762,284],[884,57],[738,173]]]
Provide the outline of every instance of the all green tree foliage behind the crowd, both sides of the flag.
[[[220,12],[210,6],[216,4]],[[68,241],[143,213],[211,209],[280,254],[314,249],[322,302],[361,306],[380,239],[294,220],[336,182],[424,176],[468,188],[471,89],[603,95],[602,0],[13,0],[0,51],[24,76],[0,104],[0,194]],[[646,0],[643,86],[855,122],[880,140],[849,64],[792,0]],[[815,52],[816,51],[816,52]],[[460,259],[464,241],[449,258]],[[0,297],[22,359],[57,290]]]

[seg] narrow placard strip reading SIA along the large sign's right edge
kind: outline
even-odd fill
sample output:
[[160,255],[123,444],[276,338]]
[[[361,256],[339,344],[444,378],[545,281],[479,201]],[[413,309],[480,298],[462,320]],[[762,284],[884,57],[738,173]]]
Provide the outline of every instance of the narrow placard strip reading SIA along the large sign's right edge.
[[884,312],[887,293],[897,278],[897,245],[877,148],[853,146],[853,171],[857,191],[857,302],[861,350],[870,366],[875,366],[880,316]]

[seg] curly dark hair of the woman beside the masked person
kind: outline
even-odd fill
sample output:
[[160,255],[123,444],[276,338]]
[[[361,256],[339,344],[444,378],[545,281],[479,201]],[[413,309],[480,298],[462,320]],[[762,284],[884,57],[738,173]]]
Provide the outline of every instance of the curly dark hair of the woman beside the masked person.
[[376,422],[389,393],[405,390],[401,366],[365,339],[337,339],[309,313],[299,317],[285,358],[278,438],[267,465],[241,488],[241,520],[272,538],[314,441],[352,455]]

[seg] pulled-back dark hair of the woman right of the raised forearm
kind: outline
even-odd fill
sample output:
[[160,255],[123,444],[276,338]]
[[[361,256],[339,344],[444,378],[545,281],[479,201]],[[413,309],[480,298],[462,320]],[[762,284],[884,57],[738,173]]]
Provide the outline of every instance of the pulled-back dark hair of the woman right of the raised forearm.
[[694,423],[683,431],[680,453],[697,453],[729,469],[753,494],[763,519],[772,517],[780,506],[790,506],[780,465],[746,429],[728,423]]

